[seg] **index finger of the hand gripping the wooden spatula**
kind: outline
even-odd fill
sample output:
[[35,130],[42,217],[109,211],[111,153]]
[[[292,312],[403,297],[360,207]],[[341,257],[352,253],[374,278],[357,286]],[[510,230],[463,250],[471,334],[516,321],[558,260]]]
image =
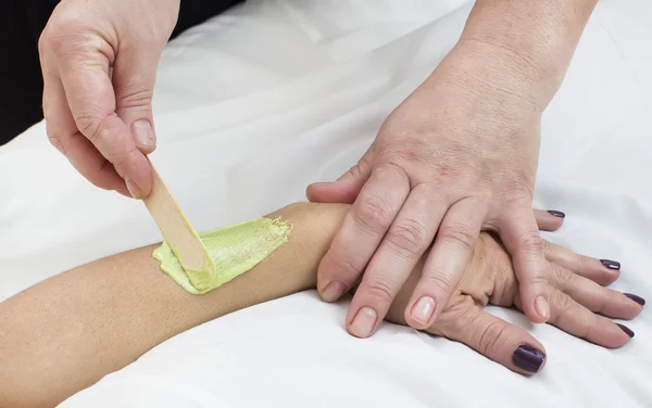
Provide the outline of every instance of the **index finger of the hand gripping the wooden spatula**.
[[[146,197],[151,191],[151,166],[138,150],[125,123],[115,113],[115,93],[106,69],[93,62],[64,62],[61,81],[76,128],[125,180],[131,195]],[[86,156],[68,156],[76,168],[85,168]]]

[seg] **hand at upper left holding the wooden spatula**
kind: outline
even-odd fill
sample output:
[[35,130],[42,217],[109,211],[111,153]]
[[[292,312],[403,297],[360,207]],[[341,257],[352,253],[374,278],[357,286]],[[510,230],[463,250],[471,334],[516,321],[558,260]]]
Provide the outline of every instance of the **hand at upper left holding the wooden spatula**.
[[179,0],[63,0],[41,35],[48,137],[102,189],[151,190],[156,65],[178,11]]

